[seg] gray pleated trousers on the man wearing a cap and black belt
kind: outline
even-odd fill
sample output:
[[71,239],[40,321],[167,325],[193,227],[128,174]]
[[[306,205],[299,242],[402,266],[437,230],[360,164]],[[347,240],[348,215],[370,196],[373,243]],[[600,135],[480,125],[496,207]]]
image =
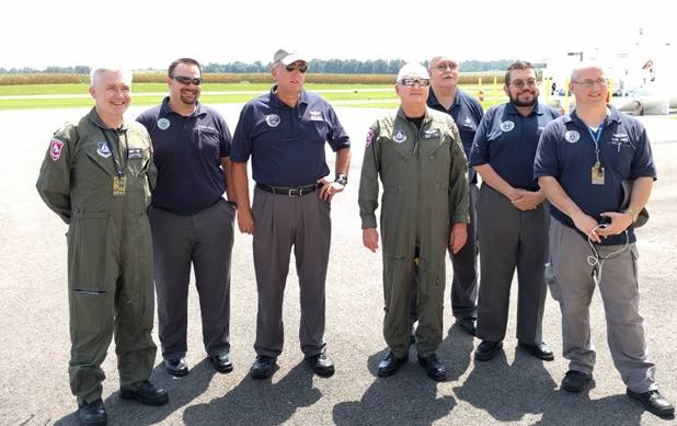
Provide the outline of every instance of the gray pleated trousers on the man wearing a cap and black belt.
[[331,205],[320,199],[318,193],[289,197],[255,187],[252,214],[259,290],[256,355],[276,358],[282,354],[285,339],[283,301],[292,247],[300,289],[301,352],[306,357],[323,353]]

